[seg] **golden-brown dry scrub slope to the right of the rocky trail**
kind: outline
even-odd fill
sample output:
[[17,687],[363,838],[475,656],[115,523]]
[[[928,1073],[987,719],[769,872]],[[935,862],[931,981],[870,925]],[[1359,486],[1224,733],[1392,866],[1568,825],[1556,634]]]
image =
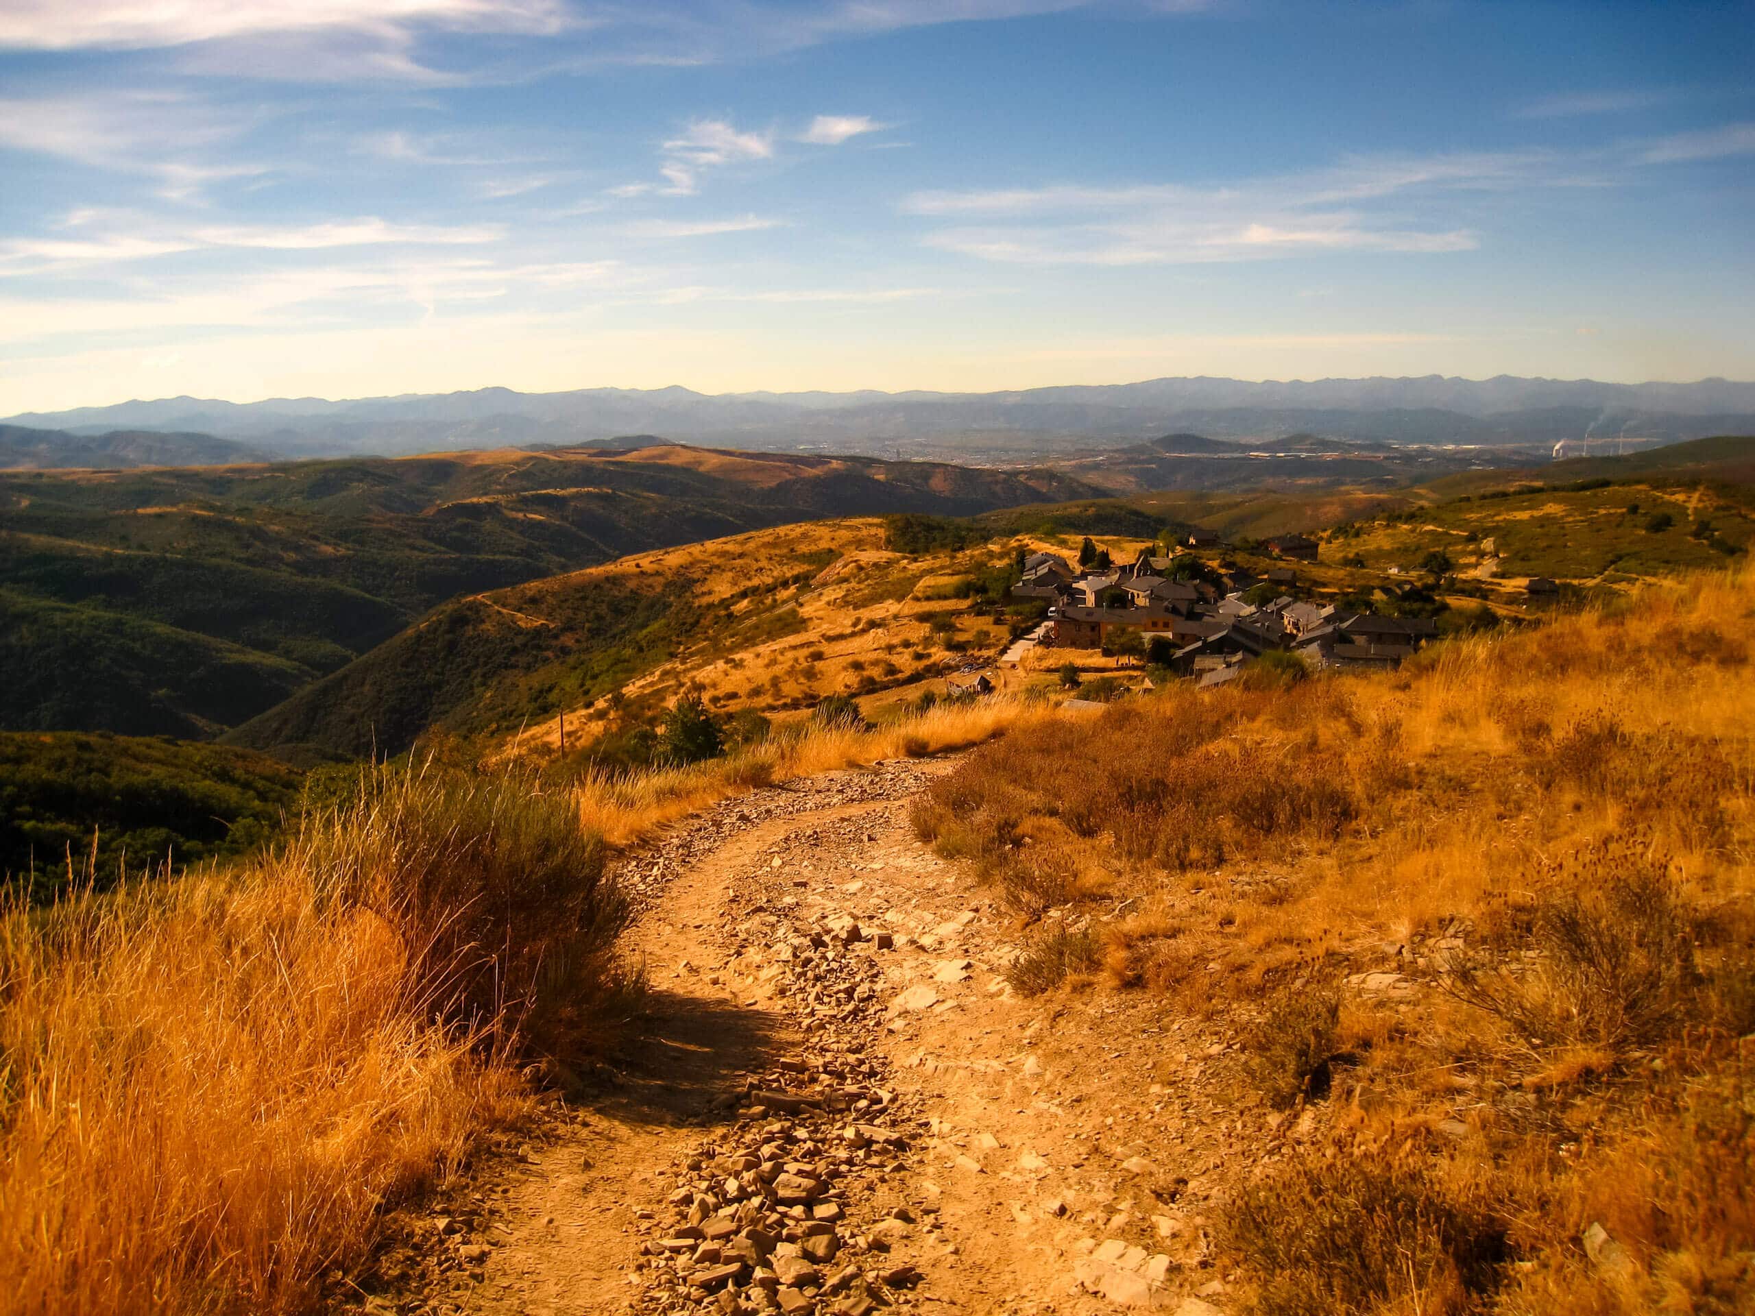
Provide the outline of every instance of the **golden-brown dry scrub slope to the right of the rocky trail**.
[[1028,925],[1020,988],[1225,1019],[1239,1100],[1318,1116],[1225,1216],[1257,1311],[1750,1311],[1751,644],[1755,577],[1650,586],[1020,728],[914,821]]

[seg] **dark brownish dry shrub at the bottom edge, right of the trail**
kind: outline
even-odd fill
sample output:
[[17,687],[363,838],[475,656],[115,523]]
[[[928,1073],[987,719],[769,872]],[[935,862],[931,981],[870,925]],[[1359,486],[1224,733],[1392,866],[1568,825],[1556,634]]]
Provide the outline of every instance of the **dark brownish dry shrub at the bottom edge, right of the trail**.
[[1344,1151],[1246,1184],[1220,1237],[1264,1316],[1457,1312],[1497,1284],[1506,1256],[1504,1227],[1472,1197],[1423,1167]]

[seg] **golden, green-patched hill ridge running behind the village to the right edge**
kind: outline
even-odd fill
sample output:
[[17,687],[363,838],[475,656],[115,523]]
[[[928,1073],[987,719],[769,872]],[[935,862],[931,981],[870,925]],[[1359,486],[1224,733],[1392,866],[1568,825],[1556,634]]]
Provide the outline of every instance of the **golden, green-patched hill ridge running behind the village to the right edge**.
[[[400,753],[432,730],[553,753],[558,714],[577,747],[653,725],[684,691],[721,714],[769,718],[827,695],[895,702],[992,662],[1034,621],[1007,607],[1014,554],[1074,558],[1085,535],[1125,561],[1164,530],[1202,525],[1232,540],[1206,556],[1260,576],[1286,565],[1260,537],[1316,533],[1322,560],[1295,563],[1295,590],[1330,598],[1432,586],[1425,563],[1443,553],[1457,605],[1509,616],[1530,605],[1532,576],[1616,591],[1722,565],[1755,542],[1755,505],[1744,505],[1755,500],[1734,490],[1585,484],[1437,502],[1362,490],[1148,493],[951,523],[751,530],[455,600],[226,740],[295,762]],[[1667,521],[1655,526],[1660,511]]]

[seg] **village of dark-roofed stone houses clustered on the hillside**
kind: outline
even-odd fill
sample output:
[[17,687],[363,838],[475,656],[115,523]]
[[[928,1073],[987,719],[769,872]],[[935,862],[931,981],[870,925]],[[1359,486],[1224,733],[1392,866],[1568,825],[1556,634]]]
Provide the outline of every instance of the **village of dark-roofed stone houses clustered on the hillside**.
[[[1211,547],[1218,537],[1197,530],[1188,547]],[[1316,544],[1302,535],[1269,540],[1281,558],[1314,561]],[[1137,632],[1153,649],[1169,647],[1171,670],[1200,684],[1234,679],[1244,665],[1271,649],[1288,649],[1316,667],[1385,669],[1437,635],[1430,618],[1381,618],[1343,612],[1332,604],[1299,602],[1279,593],[1264,604],[1243,595],[1258,584],[1290,590],[1290,567],[1264,577],[1241,570],[1206,572],[1172,579],[1174,560],[1141,551],[1130,565],[1079,570],[1053,553],[1035,553],[1023,563],[1014,598],[1048,600],[1046,642],[1067,649],[1111,649],[1123,632]]]

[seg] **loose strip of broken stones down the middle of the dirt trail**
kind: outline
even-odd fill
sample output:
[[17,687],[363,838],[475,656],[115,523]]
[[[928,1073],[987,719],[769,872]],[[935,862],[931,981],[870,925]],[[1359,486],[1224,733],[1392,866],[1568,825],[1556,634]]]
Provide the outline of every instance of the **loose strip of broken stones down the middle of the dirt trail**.
[[783,869],[749,874],[734,963],[790,1007],[809,1049],[720,1097],[735,1123],[670,1167],[669,1212],[639,1221],[637,1311],[865,1316],[913,1305],[921,1281],[899,1253],[937,1230],[937,1207],[900,1191],[925,1123],[865,1055],[893,937],[844,911],[806,914]]

